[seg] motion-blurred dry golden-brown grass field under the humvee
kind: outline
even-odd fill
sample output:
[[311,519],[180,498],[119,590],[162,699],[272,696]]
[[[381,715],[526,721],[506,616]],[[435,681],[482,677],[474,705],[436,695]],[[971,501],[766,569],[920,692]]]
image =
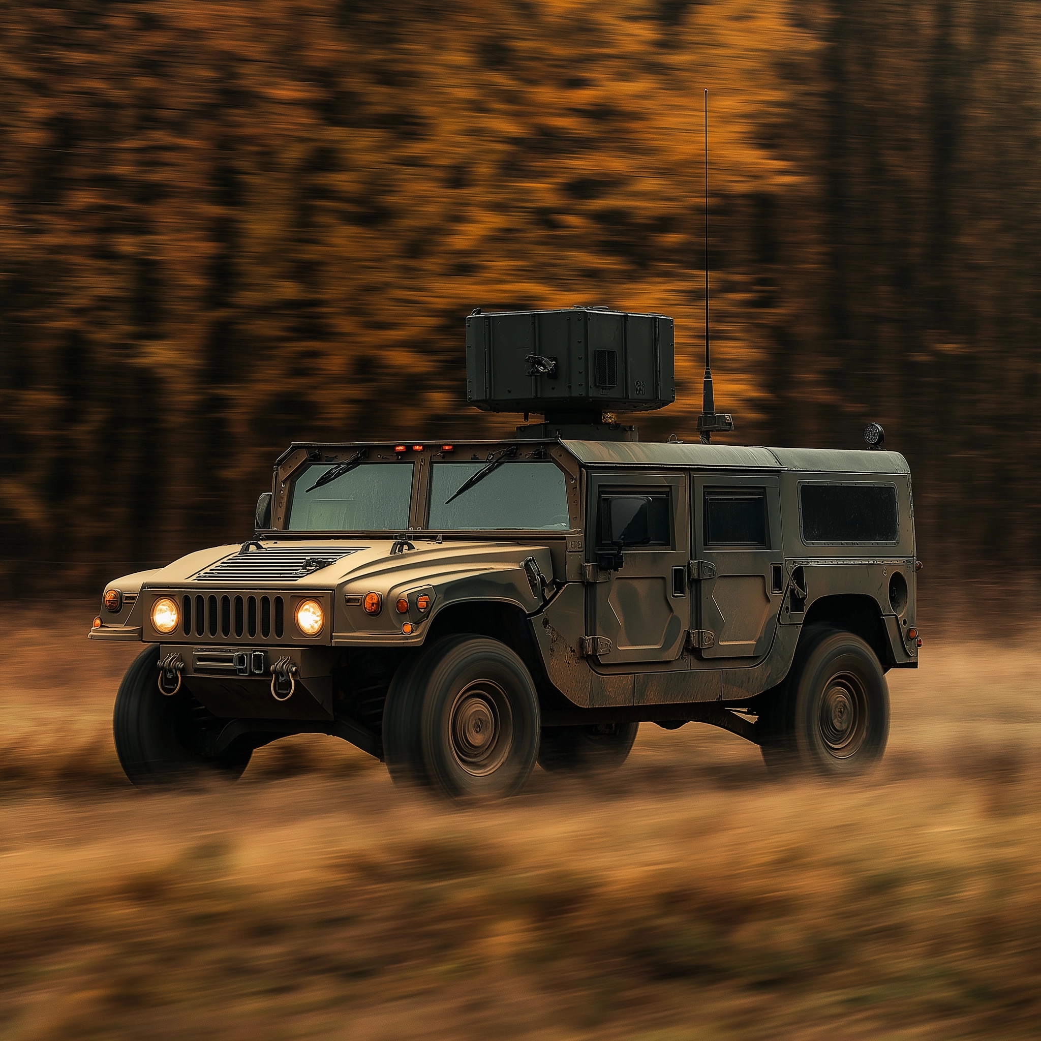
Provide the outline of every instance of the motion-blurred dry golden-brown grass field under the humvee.
[[137,649],[91,616],[0,619],[4,1041],[1041,1031],[1036,637],[926,642],[867,781],[644,726],[613,777],[454,811],[331,738],[131,789],[109,713]]

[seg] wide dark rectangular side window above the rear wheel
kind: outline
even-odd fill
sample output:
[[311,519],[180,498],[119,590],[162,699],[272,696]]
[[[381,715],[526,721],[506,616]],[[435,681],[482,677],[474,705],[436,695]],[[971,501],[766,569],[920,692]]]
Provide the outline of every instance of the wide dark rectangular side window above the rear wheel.
[[895,542],[892,484],[803,484],[798,489],[804,542]]

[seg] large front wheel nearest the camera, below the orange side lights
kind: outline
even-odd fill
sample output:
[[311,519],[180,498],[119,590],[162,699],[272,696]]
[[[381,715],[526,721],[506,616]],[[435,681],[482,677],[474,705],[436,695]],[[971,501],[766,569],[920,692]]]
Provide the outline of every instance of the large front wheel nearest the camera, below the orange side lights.
[[387,691],[383,748],[396,783],[461,802],[524,787],[538,754],[538,695],[498,640],[447,636],[403,665]]

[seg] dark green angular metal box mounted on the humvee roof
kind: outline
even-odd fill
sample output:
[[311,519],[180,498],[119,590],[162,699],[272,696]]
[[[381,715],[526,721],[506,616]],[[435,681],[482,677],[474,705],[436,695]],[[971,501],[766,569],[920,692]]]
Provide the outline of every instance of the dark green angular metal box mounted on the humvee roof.
[[490,412],[598,418],[670,405],[672,320],[599,307],[472,314],[466,401]]

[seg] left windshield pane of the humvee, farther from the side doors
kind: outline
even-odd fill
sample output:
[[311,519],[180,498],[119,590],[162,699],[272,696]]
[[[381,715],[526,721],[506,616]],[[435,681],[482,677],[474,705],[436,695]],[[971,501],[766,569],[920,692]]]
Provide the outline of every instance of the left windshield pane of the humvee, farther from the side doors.
[[[293,485],[289,531],[405,531],[412,463],[364,462],[313,487],[336,463],[312,463]],[[310,490],[308,490],[310,489]]]

